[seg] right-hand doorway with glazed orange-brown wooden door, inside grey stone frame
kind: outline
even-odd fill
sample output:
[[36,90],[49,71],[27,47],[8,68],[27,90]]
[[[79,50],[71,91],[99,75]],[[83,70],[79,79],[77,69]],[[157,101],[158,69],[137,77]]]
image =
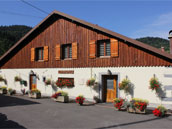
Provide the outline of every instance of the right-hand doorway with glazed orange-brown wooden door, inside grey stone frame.
[[117,75],[102,75],[102,101],[113,102],[117,97]]

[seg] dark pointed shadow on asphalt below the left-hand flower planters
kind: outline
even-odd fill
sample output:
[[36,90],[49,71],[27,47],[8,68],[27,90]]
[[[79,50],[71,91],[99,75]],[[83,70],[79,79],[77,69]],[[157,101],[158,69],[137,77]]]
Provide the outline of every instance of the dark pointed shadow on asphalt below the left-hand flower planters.
[[40,104],[38,102],[17,98],[15,96],[5,96],[0,94],[0,107]]

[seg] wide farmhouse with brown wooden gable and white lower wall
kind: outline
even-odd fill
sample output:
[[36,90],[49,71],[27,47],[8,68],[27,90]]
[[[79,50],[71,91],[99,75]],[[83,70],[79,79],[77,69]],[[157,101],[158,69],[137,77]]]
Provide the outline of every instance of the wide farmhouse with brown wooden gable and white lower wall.
[[[0,75],[6,79],[0,86],[17,92],[37,88],[47,96],[63,90],[91,101],[94,96],[102,102],[136,97],[171,104],[171,66],[171,54],[53,11],[0,58]],[[160,97],[149,88],[151,78],[161,83]],[[119,90],[123,79],[130,80],[131,94]]]

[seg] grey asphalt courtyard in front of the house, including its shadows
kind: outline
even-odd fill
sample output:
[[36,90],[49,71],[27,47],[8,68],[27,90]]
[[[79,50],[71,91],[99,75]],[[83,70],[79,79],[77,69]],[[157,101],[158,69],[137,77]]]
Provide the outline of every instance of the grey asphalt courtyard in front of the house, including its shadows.
[[171,129],[172,116],[119,112],[108,104],[79,106],[49,98],[0,95],[0,128]]

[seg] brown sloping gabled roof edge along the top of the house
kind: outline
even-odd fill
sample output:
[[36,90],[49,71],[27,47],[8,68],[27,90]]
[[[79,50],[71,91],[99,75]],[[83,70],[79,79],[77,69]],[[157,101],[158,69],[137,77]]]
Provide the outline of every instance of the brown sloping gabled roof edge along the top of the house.
[[103,33],[106,33],[114,38],[117,38],[117,39],[120,39],[120,40],[123,40],[125,43],[129,42],[133,45],[136,45],[140,48],[143,48],[143,49],[146,49],[148,51],[151,51],[153,53],[156,53],[160,56],[163,56],[167,59],[172,59],[172,55],[169,54],[169,53],[166,53],[166,52],[162,52],[161,50],[157,49],[157,48],[154,48],[152,46],[149,46],[147,44],[144,44],[142,42],[139,42],[137,40],[134,40],[134,39],[131,39],[131,38],[128,38],[126,36],[123,36],[121,34],[118,34],[116,32],[113,32],[113,31],[110,31],[108,29],[105,29],[103,27],[100,27],[100,26],[97,26],[95,24],[92,24],[92,23],[89,23],[89,22],[86,22],[86,21],[83,21],[83,20],[80,20],[78,18],[75,18],[73,16],[70,16],[70,15],[67,15],[67,14],[64,14],[62,12],[59,12],[59,11],[53,11],[52,13],[50,13],[46,18],[44,18],[37,26],[35,26],[32,30],[30,30],[24,37],[22,37],[14,46],[12,46],[3,56],[1,56],[0,58],[0,61],[2,59],[4,59],[11,51],[13,51],[19,44],[22,43],[22,41],[24,41],[29,35],[31,35],[35,30],[37,30],[39,28],[39,26],[41,26],[43,23],[45,23],[46,21],[48,21],[50,19],[50,17],[52,17],[53,15],[59,15],[61,17],[64,17],[66,19],[69,19],[73,22],[76,22],[76,23],[79,23],[79,24],[82,24],[84,26],[87,26],[87,27],[90,27],[94,30],[97,30],[97,31],[100,31],[100,32],[103,32]]

